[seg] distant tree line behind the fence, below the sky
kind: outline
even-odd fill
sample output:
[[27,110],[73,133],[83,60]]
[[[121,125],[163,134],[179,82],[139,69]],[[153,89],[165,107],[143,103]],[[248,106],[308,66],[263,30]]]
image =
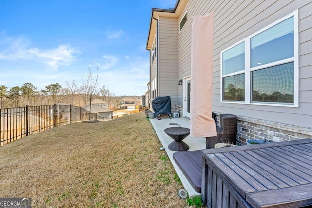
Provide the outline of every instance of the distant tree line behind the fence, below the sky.
[[[97,69],[98,72],[98,69]],[[96,78],[96,80],[94,80]],[[118,106],[119,97],[115,97],[109,89],[102,85],[98,88],[98,73],[94,76],[89,68],[87,76],[82,77],[82,85],[77,86],[77,81],[66,81],[66,87],[59,83],[45,86],[38,90],[32,83],[22,86],[11,87],[0,85],[0,108],[51,105],[55,103],[66,103],[76,106],[85,106],[93,99],[102,99],[114,108]]]

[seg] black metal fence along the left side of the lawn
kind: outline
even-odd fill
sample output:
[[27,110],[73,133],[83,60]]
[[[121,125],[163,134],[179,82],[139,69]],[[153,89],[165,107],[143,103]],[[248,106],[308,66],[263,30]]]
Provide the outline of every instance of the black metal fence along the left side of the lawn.
[[0,146],[73,121],[108,120],[72,105],[25,106],[0,109]]

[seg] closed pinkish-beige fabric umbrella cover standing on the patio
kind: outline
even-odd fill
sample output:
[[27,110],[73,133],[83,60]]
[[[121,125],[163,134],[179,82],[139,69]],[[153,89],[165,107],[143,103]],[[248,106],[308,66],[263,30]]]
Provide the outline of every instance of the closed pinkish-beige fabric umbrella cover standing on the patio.
[[212,118],[214,13],[192,19],[190,135],[216,136]]

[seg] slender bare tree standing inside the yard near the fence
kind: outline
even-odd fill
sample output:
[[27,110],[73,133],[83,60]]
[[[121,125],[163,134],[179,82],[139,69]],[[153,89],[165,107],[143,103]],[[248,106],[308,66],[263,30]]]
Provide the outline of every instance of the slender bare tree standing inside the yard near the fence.
[[91,69],[89,67],[89,73],[85,76],[82,77],[82,86],[81,86],[81,91],[84,93],[86,96],[90,109],[89,109],[89,121],[91,120],[90,117],[90,112],[91,112],[91,101],[92,99],[99,94],[98,90],[98,67],[97,69],[97,75],[94,76],[91,72]]

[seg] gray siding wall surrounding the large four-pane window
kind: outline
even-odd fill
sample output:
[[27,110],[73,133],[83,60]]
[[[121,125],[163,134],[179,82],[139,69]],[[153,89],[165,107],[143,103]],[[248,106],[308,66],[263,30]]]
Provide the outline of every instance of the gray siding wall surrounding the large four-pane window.
[[[299,107],[220,102],[220,52],[274,21],[299,10]],[[179,33],[179,79],[190,76],[192,16],[215,13],[213,110],[240,116],[312,127],[312,3],[311,0],[189,0],[188,21]],[[183,17],[181,14],[179,20]],[[182,103],[182,88],[179,99]]]

